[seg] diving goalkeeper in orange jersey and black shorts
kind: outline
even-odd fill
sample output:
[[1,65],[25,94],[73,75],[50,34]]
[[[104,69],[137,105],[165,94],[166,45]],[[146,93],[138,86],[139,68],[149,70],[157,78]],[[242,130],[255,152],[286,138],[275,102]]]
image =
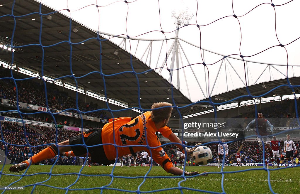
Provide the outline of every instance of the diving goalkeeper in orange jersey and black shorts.
[[[167,126],[173,110],[170,103],[154,103],[151,108],[152,111],[145,112],[136,118],[110,119],[103,129],[90,129],[82,134],[80,133],[69,140],[59,143],[58,147],[52,144],[28,160],[12,165],[9,170],[12,172],[22,171],[29,165],[52,158],[59,153],[64,156],[86,156],[88,154],[88,157],[91,157],[91,162],[110,165],[115,163],[118,156],[146,150],[165,171],[181,175],[183,174],[182,169],[173,166],[155,133],[160,132],[170,141],[179,143],[176,146],[183,152],[187,152],[188,155],[193,153],[195,147],[190,149],[182,147],[182,142]],[[87,146],[93,147],[84,146],[83,141]],[[117,147],[115,147],[114,143],[116,143]],[[141,146],[147,145],[147,143],[149,147],[155,148],[148,149],[145,146]],[[191,176],[199,174],[199,172],[185,171],[184,174]]]

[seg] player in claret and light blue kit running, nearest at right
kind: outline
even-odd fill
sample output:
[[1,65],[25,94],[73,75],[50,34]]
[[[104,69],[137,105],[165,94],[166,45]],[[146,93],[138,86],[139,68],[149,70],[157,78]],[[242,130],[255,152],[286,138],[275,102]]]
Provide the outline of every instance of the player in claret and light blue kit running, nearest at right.
[[[269,134],[267,132],[267,128],[270,127],[271,128],[271,133],[273,133],[273,129],[274,129],[274,126],[268,121],[266,120],[262,113],[259,113],[257,114],[257,119],[254,119],[252,120],[248,126],[246,127],[246,129],[249,129],[250,126],[253,126],[256,128],[255,130],[255,134],[256,134],[256,137],[257,137],[257,141],[259,143],[259,146],[260,146],[260,149],[262,149],[262,141],[264,142],[265,146],[267,146],[268,148],[268,153],[270,153],[271,155],[271,159],[273,161],[273,165],[277,165],[275,162],[274,162],[274,158],[273,158],[273,151],[271,149],[271,138],[269,137]],[[261,137],[259,137],[261,136]],[[266,151],[266,153],[267,153]],[[266,168],[269,168],[269,164],[267,162],[267,159],[265,158],[265,166]]]

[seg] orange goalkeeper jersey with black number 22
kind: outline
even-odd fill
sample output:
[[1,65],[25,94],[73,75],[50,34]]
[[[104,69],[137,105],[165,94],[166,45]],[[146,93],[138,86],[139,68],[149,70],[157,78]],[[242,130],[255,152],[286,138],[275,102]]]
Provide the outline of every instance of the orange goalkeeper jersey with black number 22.
[[[117,147],[118,153],[114,145],[104,145],[104,152],[107,159],[113,160],[116,157],[124,156],[133,152],[146,150],[149,156],[152,156],[155,162],[160,164],[165,171],[169,171],[173,166],[169,156],[164,152],[161,146],[161,142],[156,136],[156,132],[161,132],[164,137],[169,137],[172,133],[170,127],[165,126],[160,129],[156,129],[155,123],[151,120],[151,112],[148,111],[138,117],[122,117],[110,119],[109,123],[105,124],[102,129],[102,143],[103,144],[114,144],[122,146]],[[115,132],[115,138],[113,136]],[[115,140],[115,142],[114,142]],[[144,146],[148,145],[150,150]],[[128,147],[128,145],[136,145],[134,147]],[[123,147],[124,146],[124,147]]]

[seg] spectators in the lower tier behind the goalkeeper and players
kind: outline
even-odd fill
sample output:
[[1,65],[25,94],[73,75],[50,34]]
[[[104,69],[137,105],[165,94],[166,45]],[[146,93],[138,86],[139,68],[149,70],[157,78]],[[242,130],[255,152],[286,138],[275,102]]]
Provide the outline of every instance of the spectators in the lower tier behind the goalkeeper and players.
[[[65,141],[72,136],[78,134],[77,131],[72,130],[63,130],[43,127],[43,126],[35,126],[35,129],[29,126],[25,126],[26,135],[24,133],[23,126],[19,126],[17,123],[1,121],[1,129],[4,141],[8,144],[0,142],[0,148],[2,150],[7,149],[7,157],[12,161],[12,163],[22,162],[23,160],[28,159],[28,154],[38,153],[42,149],[46,147],[44,144],[52,144],[53,140],[57,139],[57,142]],[[2,138],[2,137],[1,137]],[[300,142],[294,141],[297,147],[297,150],[300,150]],[[167,142],[162,141],[162,144],[166,144]],[[189,142],[189,145],[195,145],[197,143],[205,143],[205,142]],[[12,144],[12,145],[11,145]],[[280,142],[281,146],[283,146],[283,141]],[[6,145],[6,147],[5,147]],[[19,146],[21,145],[21,146]],[[44,146],[41,146],[44,145]],[[211,162],[217,162],[217,145],[218,143],[210,143],[207,146],[210,147],[213,153],[213,160]],[[242,145],[242,146],[241,146]],[[257,141],[243,141],[243,142],[232,142],[228,144],[229,153],[228,157],[226,157],[226,162],[234,161],[235,155],[238,149],[241,147],[242,153],[242,161],[243,162],[262,162],[262,150],[259,148],[259,144]],[[177,150],[175,144],[167,144],[163,146],[165,152],[170,156],[171,161],[175,164],[181,164],[177,157]],[[283,147],[281,147],[283,150]],[[137,164],[142,163],[142,155],[141,152],[137,154]],[[266,156],[268,158],[268,155]],[[297,154],[299,157],[299,153]],[[53,164],[56,158],[49,159],[45,163]],[[59,160],[57,164],[61,165],[73,165],[75,164],[76,158],[62,158],[59,156]],[[147,160],[148,161],[148,160]],[[120,161],[119,161],[120,162]],[[124,156],[124,162],[127,162],[127,157]],[[148,163],[148,162],[147,162]],[[156,162],[154,162],[156,164]]]

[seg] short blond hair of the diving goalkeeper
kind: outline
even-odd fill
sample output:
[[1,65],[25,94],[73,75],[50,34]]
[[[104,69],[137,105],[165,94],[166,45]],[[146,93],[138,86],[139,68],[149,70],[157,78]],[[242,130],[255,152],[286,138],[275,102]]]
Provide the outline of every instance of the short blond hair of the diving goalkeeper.
[[[166,107],[169,106],[169,107]],[[161,108],[164,107],[164,108]],[[159,108],[159,109],[156,109]],[[155,102],[151,106],[151,109],[156,109],[151,111],[151,119],[155,122],[161,122],[165,119],[169,119],[170,113],[173,110],[172,104],[168,102]]]

